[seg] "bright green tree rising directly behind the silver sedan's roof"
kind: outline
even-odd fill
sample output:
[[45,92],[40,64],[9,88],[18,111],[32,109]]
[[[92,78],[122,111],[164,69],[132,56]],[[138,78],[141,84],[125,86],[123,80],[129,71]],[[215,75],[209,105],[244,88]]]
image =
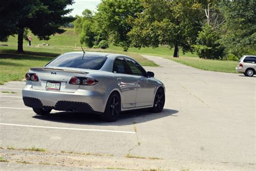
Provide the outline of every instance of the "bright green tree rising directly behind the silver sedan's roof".
[[130,46],[127,33],[132,29],[131,18],[136,18],[142,12],[142,1],[102,0],[96,13],[100,28],[112,36],[116,45],[122,46],[124,51]]

